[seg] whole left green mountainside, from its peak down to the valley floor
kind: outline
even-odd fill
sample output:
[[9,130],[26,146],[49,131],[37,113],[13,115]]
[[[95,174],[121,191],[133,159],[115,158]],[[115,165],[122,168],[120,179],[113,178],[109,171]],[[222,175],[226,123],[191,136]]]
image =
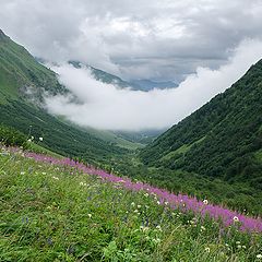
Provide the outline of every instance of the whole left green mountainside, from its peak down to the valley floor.
[[[44,108],[44,95],[67,94],[55,72],[38,63],[22,46],[0,31],[0,122],[43,136],[43,144],[62,155],[92,163],[110,162],[127,153],[132,143],[95,130],[83,130]],[[102,139],[105,136],[105,140]],[[120,146],[118,146],[120,145]],[[135,147],[135,145],[134,145]]]

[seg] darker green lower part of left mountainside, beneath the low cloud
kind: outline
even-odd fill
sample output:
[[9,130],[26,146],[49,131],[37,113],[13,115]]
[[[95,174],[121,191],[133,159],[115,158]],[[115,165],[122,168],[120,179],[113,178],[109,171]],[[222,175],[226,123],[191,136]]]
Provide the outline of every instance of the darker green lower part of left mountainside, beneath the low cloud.
[[21,102],[0,105],[1,122],[14,127],[36,139],[44,138],[43,145],[58,154],[80,157],[93,164],[110,163],[127,154],[127,150],[111,145],[94,135],[59,121],[43,109]]

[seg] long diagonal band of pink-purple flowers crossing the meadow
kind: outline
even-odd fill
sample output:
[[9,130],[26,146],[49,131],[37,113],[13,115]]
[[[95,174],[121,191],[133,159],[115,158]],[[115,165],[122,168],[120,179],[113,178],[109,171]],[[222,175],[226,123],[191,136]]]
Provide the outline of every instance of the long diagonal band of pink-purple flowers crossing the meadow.
[[202,202],[199,201],[196,198],[191,198],[186,194],[174,194],[164,189],[152,187],[147,183],[142,183],[139,181],[133,182],[129,178],[118,177],[112,174],[108,174],[105,170],[97,169],[92,166],[86,166],[83,163],[79,163],[70,158],[57,159],[55,157],[35,153],[26,153],[25,156],[34,158],[36,162],[69,166],[71,168],[80,170],[83,174],[94,175],[98,178],[102,178],[102,180],[112,183],[121,182],[122,188],[134,192],[146,191],[150,195],[154,195],[157,198],[157,204],[159,205],[165,205],[165,202],[168,202],[169,206],[174,210],[181,210],[181,212],[191,211],[194,214],[200,214],[202,217],[210,216],[213,219],[222,221],[225,227],[231,226],[239,222],[239,228],[242,231],[262,233],[261,218],[248,217],[243,214],[239,214],[237,212],[224,209],[219,205],[209,204],[209,202],[206,201]]

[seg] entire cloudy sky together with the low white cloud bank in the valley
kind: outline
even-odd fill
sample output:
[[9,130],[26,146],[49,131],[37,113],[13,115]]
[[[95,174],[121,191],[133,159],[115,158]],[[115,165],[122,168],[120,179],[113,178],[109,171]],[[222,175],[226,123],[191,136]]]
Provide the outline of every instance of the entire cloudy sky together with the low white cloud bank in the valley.
[[[82,100],[48,97],[48,110],[100,129],[168,128],[262,58],[262,0],[0,0],[0,28],[60,64],[60,81]],[[119,90],[68,60],[180,85]]]

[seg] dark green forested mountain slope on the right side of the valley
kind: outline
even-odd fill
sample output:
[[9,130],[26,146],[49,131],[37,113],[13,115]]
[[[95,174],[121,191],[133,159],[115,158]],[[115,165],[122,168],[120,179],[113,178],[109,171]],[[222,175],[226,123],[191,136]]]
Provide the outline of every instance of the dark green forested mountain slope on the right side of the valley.
[[262,189],[262,60],[140,154],[151,166]]

